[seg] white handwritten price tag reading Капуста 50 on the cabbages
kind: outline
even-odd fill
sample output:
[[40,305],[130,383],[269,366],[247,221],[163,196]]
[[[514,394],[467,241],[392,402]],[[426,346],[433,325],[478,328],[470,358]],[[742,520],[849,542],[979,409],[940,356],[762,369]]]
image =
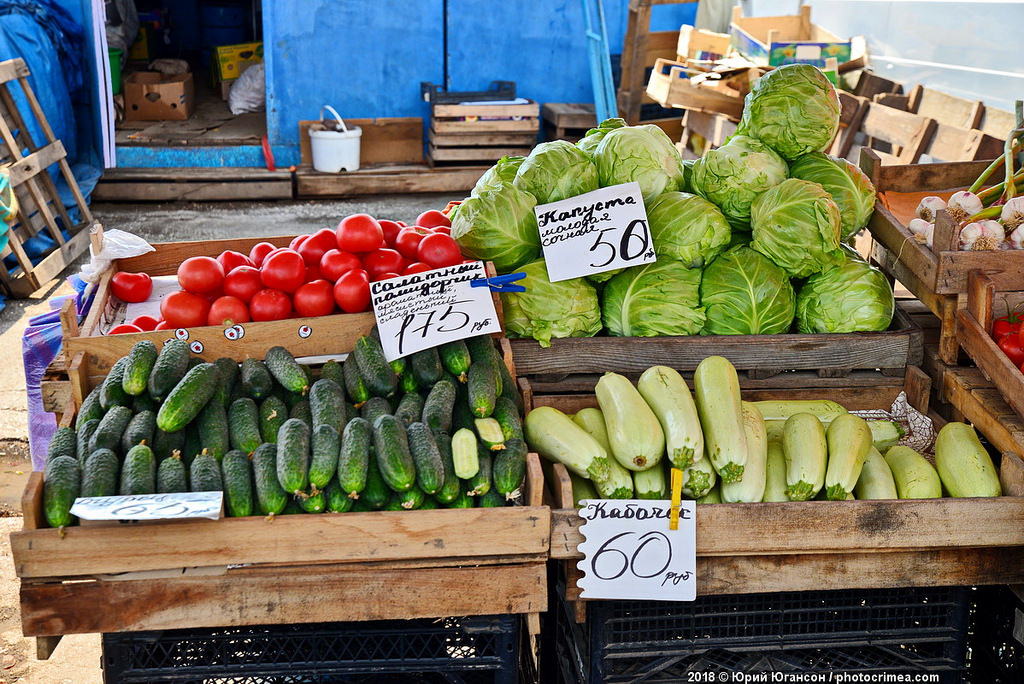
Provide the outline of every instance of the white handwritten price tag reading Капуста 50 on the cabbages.
[[534,208],[552,283],[656,260],[639,183]]

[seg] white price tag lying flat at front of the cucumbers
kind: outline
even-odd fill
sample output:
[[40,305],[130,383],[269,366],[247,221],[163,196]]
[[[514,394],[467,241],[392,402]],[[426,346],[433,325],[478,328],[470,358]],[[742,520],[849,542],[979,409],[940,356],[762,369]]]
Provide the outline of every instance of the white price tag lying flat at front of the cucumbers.
[[223,491],[90,497],[76,499],[71,512],[83,520],[217,520],[223,501]]

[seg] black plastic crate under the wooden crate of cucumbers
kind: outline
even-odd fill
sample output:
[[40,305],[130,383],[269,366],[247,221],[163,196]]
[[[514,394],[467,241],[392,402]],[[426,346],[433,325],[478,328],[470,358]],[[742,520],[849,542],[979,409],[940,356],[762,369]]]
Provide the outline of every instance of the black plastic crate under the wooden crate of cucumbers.
[[103,681],[516,684],[519,615],[104,634]]

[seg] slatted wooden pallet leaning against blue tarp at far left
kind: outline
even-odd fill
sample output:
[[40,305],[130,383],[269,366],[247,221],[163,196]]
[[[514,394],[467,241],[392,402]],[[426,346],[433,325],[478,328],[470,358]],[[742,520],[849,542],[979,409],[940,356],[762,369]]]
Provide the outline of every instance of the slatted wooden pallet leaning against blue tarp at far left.
[[[93,225],[89,206],[68,164],[67,152],[46,121],[29,84],[29,75],[24,59],[0,62],[0,167],[5,168],[18,203],[8,230],[9,241],[0,252],[0,258],[14,255],[17,266],[8,268],[0,264],[0,282],[10,296],[23,298],[56,277],[85,251],[89,244],[88,228]],[[11,96],[10,85],[15,81],[31,113],[19,112]],[[33,140],[29,132],[27,122],[32,120],[43,131],[42,143]],[[69,212],[65,207],[49,174],[54,165],[75,198],[76,218],[72,218],[74,210]],[[25,244],[42,234],[55,245],[33,263]]]

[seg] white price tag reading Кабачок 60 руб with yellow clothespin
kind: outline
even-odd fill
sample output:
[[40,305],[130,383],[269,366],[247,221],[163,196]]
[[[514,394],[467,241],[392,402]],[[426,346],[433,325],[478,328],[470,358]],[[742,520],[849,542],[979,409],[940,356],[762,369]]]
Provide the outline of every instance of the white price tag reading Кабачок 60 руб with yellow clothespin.
[[587,599],[692,601],[696,598],[696,502],[679,506],[679,529],[669,529],[669,501],[582,502],[578,582]]

